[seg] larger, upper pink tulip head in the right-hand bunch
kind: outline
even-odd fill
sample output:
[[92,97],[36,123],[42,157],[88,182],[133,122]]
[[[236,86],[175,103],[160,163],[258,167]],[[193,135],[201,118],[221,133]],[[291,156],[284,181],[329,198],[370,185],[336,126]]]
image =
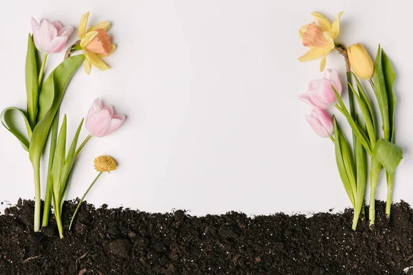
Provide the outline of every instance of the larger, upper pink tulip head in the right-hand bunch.
[[328,109],[337,102],[332,86],[341,96],[339,75],[334,69],[326,69],[323,79],[310,81],[306,93],[299,95],[298,98],[317,109]]

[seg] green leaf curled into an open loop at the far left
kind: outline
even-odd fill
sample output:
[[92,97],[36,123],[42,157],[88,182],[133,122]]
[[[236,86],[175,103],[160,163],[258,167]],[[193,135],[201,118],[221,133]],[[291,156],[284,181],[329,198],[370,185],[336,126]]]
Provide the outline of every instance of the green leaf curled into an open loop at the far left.
[[[14,119],[14,113],[17,113],[17,115],[21,115],[21,117],[23,118],[27,133],[21,133],[21,131],[18,129],[15,123],[16,120]],[[12,133],[15,137],[17,137],[17,139],[19,140],[19,142],[21,143],[21,146],[23,146],[23,149],[25,149],[25,151],[29,151],[30,137],[32,137],[32,129],[30,127],[30,123],[25,113],[23,113],[23,111],[15,107],[9,107],[9,108],[4,109],[1,112],[0,118],[1,118],[1,124],[3,124],[3,126],[6,129],[8,129],[10,133]]]

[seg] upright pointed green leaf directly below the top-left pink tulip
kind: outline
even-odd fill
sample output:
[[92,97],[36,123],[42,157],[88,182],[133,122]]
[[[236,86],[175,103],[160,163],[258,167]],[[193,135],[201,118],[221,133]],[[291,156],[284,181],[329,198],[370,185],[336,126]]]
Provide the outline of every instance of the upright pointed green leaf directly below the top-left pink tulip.
[[34,45],[33,36],[29,34],[28,52],[25,61],[25,86],[28,98],[28,117],[30,127],[36,126],[37,102],[39,100],[39,53]]

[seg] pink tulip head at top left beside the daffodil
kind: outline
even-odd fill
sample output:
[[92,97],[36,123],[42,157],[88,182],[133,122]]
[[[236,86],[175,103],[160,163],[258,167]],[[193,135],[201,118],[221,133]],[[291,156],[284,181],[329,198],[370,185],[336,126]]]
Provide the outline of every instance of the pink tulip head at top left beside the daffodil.
[[32,30],[37,50],[43,54],[50,54],[63,50],[67,39],[73,32],[73,27],[63,27],[59,21],[50,23],[46,19],[41,19],[40,23],[37,23],[32,17]]

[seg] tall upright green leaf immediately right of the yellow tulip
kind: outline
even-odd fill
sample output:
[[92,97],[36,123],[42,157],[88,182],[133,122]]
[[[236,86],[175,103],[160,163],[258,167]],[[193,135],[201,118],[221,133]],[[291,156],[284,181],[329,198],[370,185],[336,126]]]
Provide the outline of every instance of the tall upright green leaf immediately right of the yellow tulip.
[[381,57],[381,47],[377,50],[376,61],[374,62],[374,93],[376,94],[377,102],[381,113],[381,120],[383,122],[383,132],[385,140],[390,140],[390,121],[389,121],[389,102],[388,93],[385,85],[385,78],[383,75],[383,64]]

